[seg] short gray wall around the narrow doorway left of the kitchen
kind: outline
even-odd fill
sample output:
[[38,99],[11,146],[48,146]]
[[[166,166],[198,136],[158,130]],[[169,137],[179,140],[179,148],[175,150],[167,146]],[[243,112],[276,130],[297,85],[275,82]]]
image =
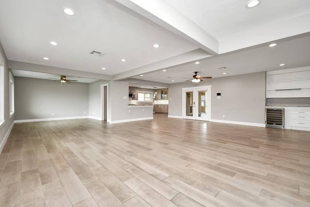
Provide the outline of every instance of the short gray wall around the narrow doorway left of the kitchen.
[[[101,118],[101,85],[109,84],[109,80],[98,80],[89,84],[89,115]],[[108,86],[108,90],[110,87]],[[108,91],[108,94],[110,92]],[[110,100],[108,97],[108,106],[110,106]],[[110,116],[110,110],[108,109],[108,117]]]

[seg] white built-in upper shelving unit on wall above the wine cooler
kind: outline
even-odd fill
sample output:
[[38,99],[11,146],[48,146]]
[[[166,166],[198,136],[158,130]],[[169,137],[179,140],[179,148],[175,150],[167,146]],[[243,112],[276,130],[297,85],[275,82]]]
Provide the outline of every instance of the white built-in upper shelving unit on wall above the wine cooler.
[[310,97],[310,67],[266,72],[266,98]]

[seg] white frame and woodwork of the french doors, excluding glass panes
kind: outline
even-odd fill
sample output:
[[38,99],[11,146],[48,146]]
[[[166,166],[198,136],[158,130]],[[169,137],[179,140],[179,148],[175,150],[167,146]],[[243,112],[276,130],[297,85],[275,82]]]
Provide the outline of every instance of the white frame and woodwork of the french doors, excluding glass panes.
[[[207,107],[207,115],[203,118],[199,117],[197,113],[198,109],[196,110],[193,109],[193,113],[195,115],[191,116],[186,116],[186,92],[193,92],[193,102],[197,102],[196,106],[198,106],[198,91],[201,91],[203,89],[206,89],[207,91],[207,97],[206,99],[208,100],[206,103]],[[206,86],[199,86],[199,87],[189,87],[189,88],[182,88],[182,117],[184,119],[194,119],[194,120],[202,120],[202,121],[210,121],[211,120],[211,85],[206,85]]]

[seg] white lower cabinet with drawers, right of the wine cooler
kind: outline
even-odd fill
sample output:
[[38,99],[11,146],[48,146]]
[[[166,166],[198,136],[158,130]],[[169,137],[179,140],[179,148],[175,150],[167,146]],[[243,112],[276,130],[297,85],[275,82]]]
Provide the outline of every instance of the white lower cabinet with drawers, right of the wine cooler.
[[310,107],[284,107],[284,128],[310,131]]

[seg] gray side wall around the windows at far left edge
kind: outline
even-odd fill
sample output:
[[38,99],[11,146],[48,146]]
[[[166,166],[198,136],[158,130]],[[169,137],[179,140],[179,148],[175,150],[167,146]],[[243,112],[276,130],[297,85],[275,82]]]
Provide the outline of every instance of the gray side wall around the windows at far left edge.
[[[13,125],[15,120],[15,115],[10,118],[10,85],[9,85],[9,69],[7,67],[7,58],[5,56],[4,50],[2,45],[0,44],[0,53],[1,56],[4,58],[4,125],[0,128],[0,152],[2,147],[4,146],[4,140],[8,138],[9,134],[8,131],[10,127]],[[2,86],[1,86],[2,90]],[[5,149],[3,150],[5,151]]]

